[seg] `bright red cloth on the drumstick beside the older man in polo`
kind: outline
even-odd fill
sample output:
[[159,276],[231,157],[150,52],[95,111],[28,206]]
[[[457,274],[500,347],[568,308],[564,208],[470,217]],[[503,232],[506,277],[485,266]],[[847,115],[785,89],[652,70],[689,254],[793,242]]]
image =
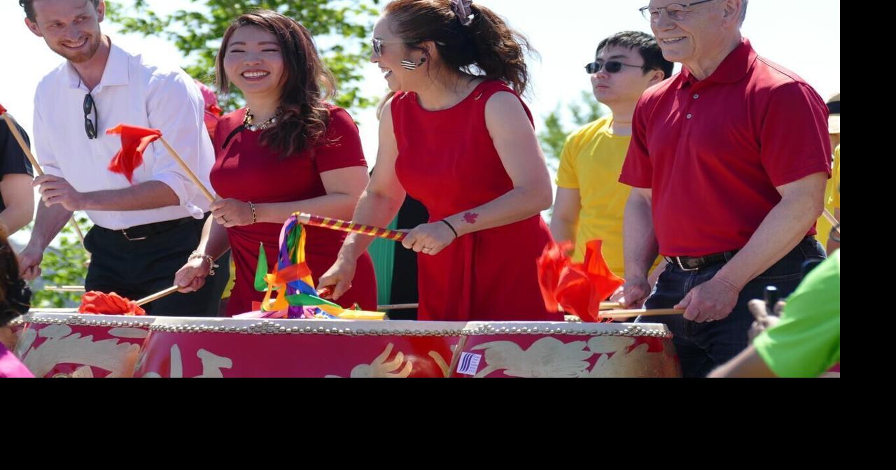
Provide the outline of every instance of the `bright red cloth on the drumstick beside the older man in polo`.
[[585,244],[585,261],[574,263],[566,254],[571,243],[548,244],[538,258],[538,285],[547,310],[556,312],[557,305],[564,312],[582,321],[600,320],[600,303],[625,284],[607,267],[600,252],[600,240]]

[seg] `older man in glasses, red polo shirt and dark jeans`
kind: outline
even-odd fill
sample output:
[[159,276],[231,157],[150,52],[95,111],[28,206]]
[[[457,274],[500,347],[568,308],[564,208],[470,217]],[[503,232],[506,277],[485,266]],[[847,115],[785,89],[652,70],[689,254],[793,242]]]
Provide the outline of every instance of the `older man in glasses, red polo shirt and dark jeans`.
[[747,302],[766,286],[789,295],[803,263],[824,256],[813,235],[831,171],[827,107],[741,37],[746,0],[652,0],[642,13],[683,68],[634,112],[619,178],[634,188],[624,303],[650,295],[659,251],[668,268],[646,306],[685,314],[650,320],[675,334],[685,377],[700,377],[746,347]]

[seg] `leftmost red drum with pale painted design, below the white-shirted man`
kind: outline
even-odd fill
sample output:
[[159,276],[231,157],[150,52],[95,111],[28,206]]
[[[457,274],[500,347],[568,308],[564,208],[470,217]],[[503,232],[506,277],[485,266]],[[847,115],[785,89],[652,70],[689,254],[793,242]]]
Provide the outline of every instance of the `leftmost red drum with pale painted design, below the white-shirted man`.
[[152,320],[33,310],[13,320],[14,353],[35,377],[131,377]]

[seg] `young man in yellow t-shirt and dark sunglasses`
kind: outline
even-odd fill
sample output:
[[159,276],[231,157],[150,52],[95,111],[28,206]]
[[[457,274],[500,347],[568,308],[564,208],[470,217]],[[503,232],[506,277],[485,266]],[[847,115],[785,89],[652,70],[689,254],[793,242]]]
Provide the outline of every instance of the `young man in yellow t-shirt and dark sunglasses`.
[[634,107],[644,90],[672,74],[655,38],[623,31],[600,41],[595,62],[586,66],[595,98],[611,114],[587,124],[566,139],[557,172],[551,234],[573,241],[573,261],[582,261],[585,244],[603,240],[607,266],[625,277],[622,219],[631,190],[618,182],[632,135]]

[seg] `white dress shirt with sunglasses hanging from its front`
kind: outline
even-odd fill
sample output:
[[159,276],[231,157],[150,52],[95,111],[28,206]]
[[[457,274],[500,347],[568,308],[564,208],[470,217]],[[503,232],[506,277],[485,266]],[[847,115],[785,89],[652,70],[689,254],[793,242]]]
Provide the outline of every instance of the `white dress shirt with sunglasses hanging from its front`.
[[[84,97],[90,91],[96,112],[90,119],[98,138],[84,131]],[[99,115],[99,123],[97,117]],[[205,187],[214,164],[214,150],[204,124],[202,93],[192,78],[177,66],[146,64],[142,56],[111,45],[102,80],[88,90],[68,61],[38,85],[34,97],[34,147],[47,175],[65,178],[78,192],[129,187],[124,175],[108,170],[121,149],[120,135],[107,135],[117,124],[159,129]],[[113,230],[163,220],[202,218],[209,209],[193,180],[159,142],[143,152],[143,164],[134,169],[134,184],[160,181],[177,194],[177,206],[146,210],[88,210],[94,224]]]

